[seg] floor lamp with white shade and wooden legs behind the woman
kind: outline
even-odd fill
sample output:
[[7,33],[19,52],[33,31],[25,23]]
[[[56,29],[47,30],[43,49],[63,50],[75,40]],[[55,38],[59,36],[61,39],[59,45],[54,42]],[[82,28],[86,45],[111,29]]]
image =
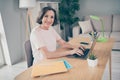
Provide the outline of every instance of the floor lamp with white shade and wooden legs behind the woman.
[[36,0],[19,0],[19,8],[23,8],[27,10],[26,13],[26,37],[29,38],[31,32],[31,12],[29,8],[33,8],[36,5]]

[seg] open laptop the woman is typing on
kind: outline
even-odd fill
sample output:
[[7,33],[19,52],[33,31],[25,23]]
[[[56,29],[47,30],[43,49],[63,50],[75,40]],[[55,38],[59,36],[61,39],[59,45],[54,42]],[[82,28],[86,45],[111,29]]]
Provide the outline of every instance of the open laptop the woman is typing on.
[[[81,58],[81,59],[87,59],[88,55],[93,51],[94,47],[95,47],[95,44],[96,44],[96,40],[98,39],[99,35],[97,35],[96,39],[94,39],[92,45],[91,45],[91,48],[87,48],[83,51],[84,55],[78,55],[78,54],[73,54],[73,55],[70,55],[68,57],[70,58]],[[82,49],[81,49],[82,50]]]

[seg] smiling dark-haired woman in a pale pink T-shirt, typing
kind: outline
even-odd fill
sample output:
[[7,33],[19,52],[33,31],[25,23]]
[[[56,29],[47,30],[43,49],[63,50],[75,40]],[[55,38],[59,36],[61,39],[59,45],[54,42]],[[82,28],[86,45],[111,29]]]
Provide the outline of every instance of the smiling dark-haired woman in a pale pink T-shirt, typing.
[[[34,63],[47,58],[57,58],[73,54],[83,55],[82,50],[65,42],[52,27],[57,24],[57,15],[53,8],[44,7],[37,23],[40,25],[33,28],[30,35]],[[70,50],[64,52],[57,51],[57,43],[61,47],[69,48]],[[81,48],[83,49],[83,47]]]

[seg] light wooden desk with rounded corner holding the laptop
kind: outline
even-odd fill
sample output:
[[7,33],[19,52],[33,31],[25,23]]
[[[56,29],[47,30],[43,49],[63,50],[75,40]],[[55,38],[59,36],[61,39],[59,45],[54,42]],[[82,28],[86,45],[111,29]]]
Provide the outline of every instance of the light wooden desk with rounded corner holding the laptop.
[[[77,44],[80,40],[79,38],[74,38],[70,43]],[[68,72],[31,78],[32,67],[30,67],[16,76],[15,80],[102,80],[108,60],[111,80],[111,50],[113,43],[114,39],[109,39],[105,43],[96,43],[93,51],[98,57],[98,65],[94,68],[88,66],[87,60],[63,57],[62,59],[67,60],[73,66]]]

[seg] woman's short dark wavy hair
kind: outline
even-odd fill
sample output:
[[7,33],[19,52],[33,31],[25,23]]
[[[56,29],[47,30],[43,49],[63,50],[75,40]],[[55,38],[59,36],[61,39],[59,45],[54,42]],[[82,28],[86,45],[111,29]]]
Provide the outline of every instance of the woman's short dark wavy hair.
[[53,22],[52,26],[58,24],[56,11],[55,11],[55,9],[51,8],[50,6],[44,7],[44,8],[42,9],[42,14],[41,14],[41,16],[38,17],[37,23],[42,24],[42,19],[43,19],[45,13],[46,13],[47,11],[49,11],[49,10],[52,10],[52,11],[54,12],[54,14],[55,14],[54,22]]

